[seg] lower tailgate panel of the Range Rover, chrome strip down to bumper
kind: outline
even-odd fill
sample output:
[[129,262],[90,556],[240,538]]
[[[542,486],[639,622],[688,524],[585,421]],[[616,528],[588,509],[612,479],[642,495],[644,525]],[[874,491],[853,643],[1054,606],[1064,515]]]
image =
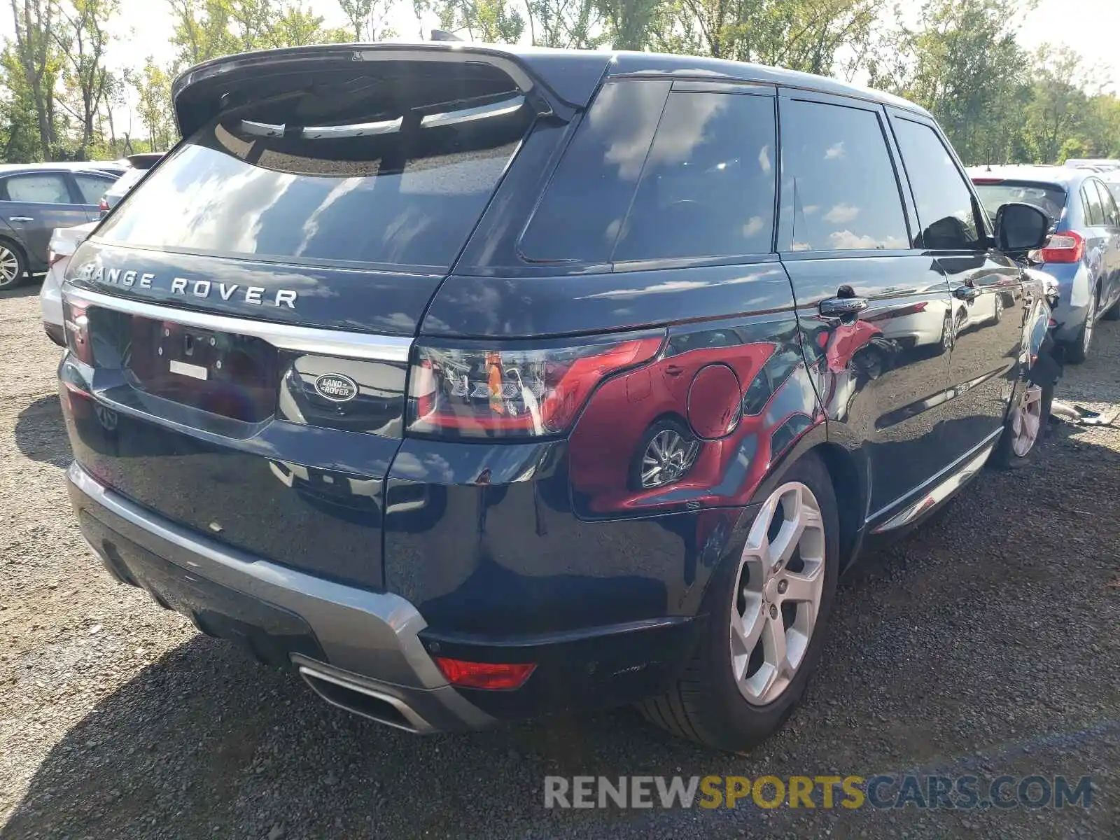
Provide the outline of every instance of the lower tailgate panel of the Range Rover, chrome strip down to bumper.
[[60,367],[64,413],[91,475],[211,539],[381,587],[382,485],[409,339],[276,329],[74,288],[66,304],[87,337]]

